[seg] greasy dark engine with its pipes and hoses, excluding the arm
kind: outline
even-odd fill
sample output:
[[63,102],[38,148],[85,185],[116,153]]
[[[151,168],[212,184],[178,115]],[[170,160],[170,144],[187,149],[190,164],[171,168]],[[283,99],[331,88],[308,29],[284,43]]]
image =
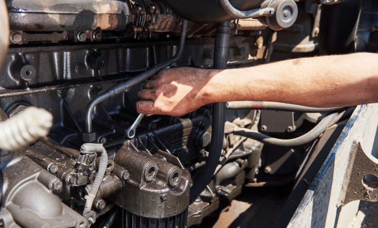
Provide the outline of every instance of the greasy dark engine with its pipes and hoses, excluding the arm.
[[[303,170],[353,107],[233,101],[174,117],[143,116],[135,104],[165,68],[322,54],[329,3],[6,0],[1,120],[37,107],[53,121],[47,136],[0,152],[0,227],[184,228],[243,188],[306,186]],[[235,19],[228,4],[259,16]]]

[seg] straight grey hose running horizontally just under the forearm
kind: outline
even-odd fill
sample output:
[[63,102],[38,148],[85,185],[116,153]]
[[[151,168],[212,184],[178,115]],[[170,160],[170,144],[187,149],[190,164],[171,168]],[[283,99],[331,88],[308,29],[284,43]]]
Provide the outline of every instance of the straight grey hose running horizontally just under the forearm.
[[323,113],[337,111],[342,109],[342,107],[314,108],[296,104],[286,104],[271,101],[229,101],[226,102],[226,109],[258,109],[303,113]]

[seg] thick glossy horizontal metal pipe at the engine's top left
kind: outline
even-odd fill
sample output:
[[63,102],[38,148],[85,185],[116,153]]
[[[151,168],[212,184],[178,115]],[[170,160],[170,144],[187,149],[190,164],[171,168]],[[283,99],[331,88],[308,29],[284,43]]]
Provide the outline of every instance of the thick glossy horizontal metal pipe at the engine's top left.
[[[6,0],[11,30],[125,30],[131,6],[121,0]],[[69,2],[71,3],[71,2]]]

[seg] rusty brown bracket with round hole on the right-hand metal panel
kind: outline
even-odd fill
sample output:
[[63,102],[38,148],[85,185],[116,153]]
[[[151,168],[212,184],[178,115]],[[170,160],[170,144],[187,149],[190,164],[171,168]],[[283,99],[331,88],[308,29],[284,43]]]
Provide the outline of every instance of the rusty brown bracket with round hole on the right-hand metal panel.
[[361,143],[355,142],[349,159],[342,193],[343,205],[354,200],[378,201],[378,159],[366,154]]

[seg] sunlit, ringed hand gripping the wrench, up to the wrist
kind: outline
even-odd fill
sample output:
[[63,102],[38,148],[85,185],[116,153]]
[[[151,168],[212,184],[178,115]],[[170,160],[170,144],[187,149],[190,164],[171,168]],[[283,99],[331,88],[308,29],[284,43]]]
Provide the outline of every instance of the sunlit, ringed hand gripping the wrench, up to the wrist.
[[182,116],[211,103],[211,70],[177,67],[162,70],[143,84],[138,113]]

